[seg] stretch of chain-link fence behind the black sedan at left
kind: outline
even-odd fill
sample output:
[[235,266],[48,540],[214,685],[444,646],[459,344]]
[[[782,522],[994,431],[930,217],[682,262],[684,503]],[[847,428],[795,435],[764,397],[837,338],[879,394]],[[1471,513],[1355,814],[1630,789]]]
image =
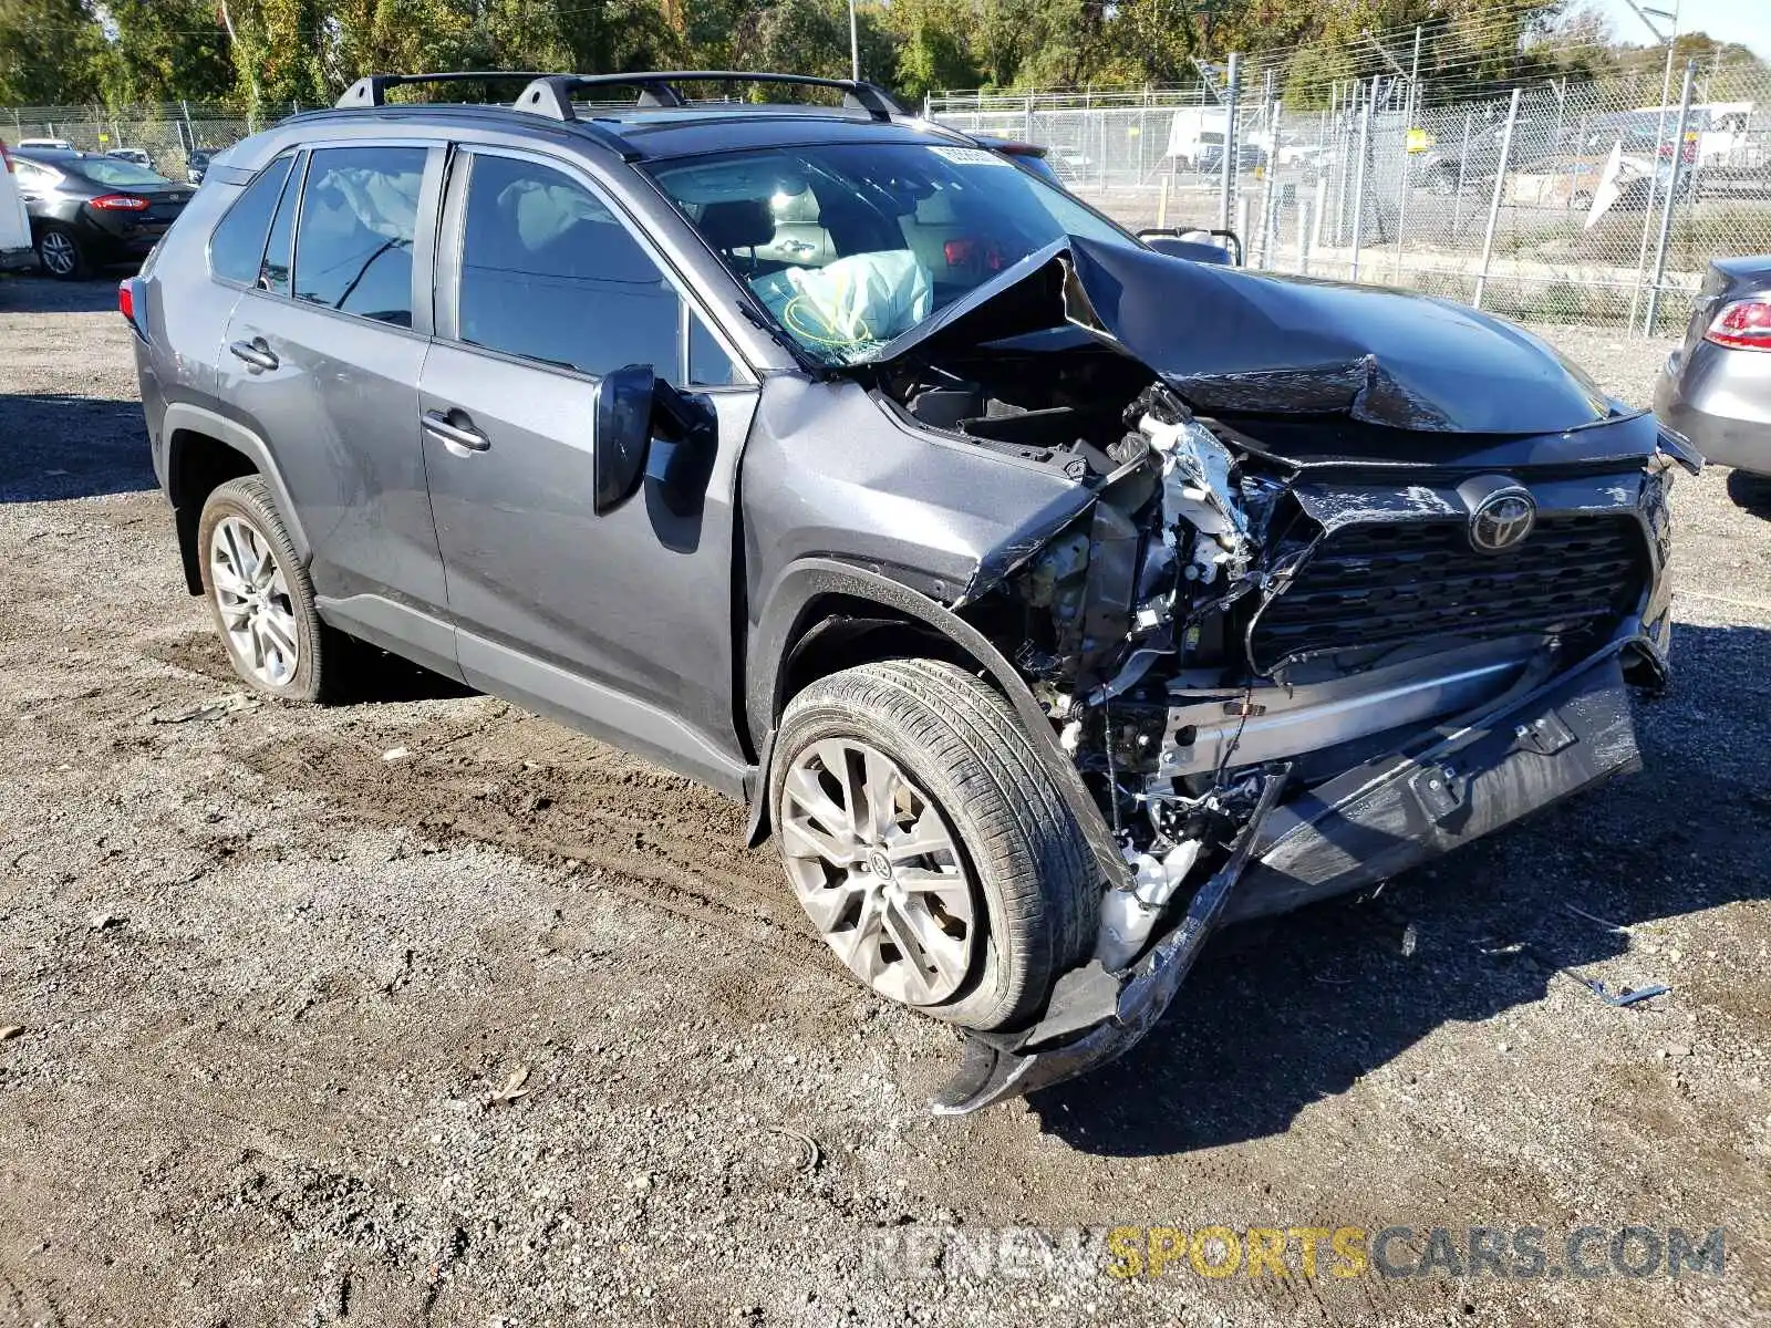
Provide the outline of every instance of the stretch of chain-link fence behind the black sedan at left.
[[301,110],[276,106],[267,117],[248,117],[227,103],[170,101],[151,106],[7,106],[0,108],[0,140],[48,140],[81,152],[147,152],[152,168],[184,179],[189,154],[237,143],[266,124]]

